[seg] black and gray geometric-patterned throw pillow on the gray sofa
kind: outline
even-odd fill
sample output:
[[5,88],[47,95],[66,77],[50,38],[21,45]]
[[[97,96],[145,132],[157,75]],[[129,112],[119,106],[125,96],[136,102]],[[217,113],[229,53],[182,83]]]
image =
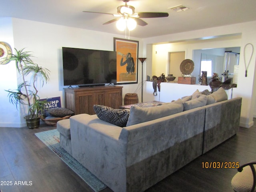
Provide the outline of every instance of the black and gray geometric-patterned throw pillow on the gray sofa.
[[126,126],[130,115],[128,109],[113,109],[103,105],[94,105],[93,109],[99,119],[120,127]]

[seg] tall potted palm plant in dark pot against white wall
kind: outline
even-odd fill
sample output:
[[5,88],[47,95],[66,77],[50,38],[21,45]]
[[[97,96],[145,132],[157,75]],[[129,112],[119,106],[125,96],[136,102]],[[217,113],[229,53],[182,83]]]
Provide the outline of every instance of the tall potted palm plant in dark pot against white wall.
[[50,71],[46,68],[38,66],[31,59],[30,51],[16,50],[12,54],[10,60],[16,62],[16,68],[22,77],[22,82],[18,85],[17,90],[6,90],[8,92],[9,100],[12,104],[23,104],[28,106],[28,112],[24,117],[28,128],[36,128],[40,125],[40,114],[44,112],[46,100],[40,100],[38,96],[37,81],[40,80],[42,86],[47,83]]

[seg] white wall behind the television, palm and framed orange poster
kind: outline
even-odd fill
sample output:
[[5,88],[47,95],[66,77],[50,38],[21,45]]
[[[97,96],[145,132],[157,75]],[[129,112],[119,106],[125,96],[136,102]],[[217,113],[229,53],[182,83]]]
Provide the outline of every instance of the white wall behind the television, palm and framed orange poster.
[[[62,107],[64,107],[64,92],[62,86],[62,47],[74,48],[88,48],[97,50],[113,50],[113,38],[124,38],[124,36],[116,36],[115,34],[108,34],[104,32],[96,32],[91,30],[84,30],[79,28],[72,28],[66,26],[59,26],[54,24],[34,22],[30,20],[22,20],[17,18],[5,19],[7,25],[3,26],[1,22],[0,34],[1,41],[9,42],[18,50],[26,48],[27,51],[32,51],[35,58],[34,62],[48,68],[50,72],[50,82],[39,90],[40,98],[50,98],[61,96]],[[7,35],[2,35],[3,30]],[[13,36],[12,36],[13,34]],[[4,37],[4,38],[2,38]],[[132,40],[139,40],[139,57],[142,53],[142,43],[140,39],[132,38]],[[138,82],[141,80],[141,64],[138,63]],[[0,66],[0,71],[4,74],[16,74],[16,70],[11,68],[11,65]],[[13,75],[0,76],[0,126],[6,127],[21,127],[26,126],[23,117],[24,110],[18,112],[12,104],[9,103],[7,92],[5,89],[17,87],[17,82],[9,84],[8,82],[16,80]],[[133,93],[138,84],[120,85],[123,86],[123,98],[126,93]],[[138,96],[140,98],[140,91]],[[2,106],[2,104],[4,104]],[[14,117],[16,118],[14,119]],[[21,119],[21,120],[20,120]],[[21,122],[20,122],[21,121]]]

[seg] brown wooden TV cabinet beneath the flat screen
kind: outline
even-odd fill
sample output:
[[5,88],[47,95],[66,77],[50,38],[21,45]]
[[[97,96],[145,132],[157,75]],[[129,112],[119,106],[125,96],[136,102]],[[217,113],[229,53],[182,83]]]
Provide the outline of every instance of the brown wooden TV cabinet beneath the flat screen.
[[66,108],[75,114],[95,114],[93,105],[118,109],[122,106],[122,86],[65,88]]

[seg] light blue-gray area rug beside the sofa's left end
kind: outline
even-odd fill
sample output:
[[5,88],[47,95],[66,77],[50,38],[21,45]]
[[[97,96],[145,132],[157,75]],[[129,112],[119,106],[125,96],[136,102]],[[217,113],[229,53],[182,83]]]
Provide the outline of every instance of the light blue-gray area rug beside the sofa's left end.
[[60,159],[78,174],[94,191],[98,192],[106,185],[75,160],[60,146],[60,133],[57,129],[35,133],[35,135],[48,146]]

